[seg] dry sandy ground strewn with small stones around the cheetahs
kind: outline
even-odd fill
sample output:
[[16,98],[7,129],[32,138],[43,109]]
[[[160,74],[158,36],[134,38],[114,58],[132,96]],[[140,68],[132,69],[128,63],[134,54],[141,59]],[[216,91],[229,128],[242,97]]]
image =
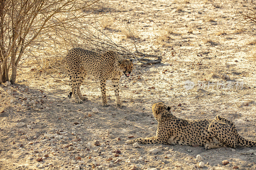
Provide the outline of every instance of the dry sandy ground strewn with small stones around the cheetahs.
[[[205,150],[124,144],[155,136],[157,122],[151,111],[155,102],[172,106],[180,118],[222,115],[235,122],[241,136],[256,141],[255,34],[234,33],[237,20],[228,19],[247,3],[110,0],[109,14],[115,16],[107,33],[134,50],[132,40],[122,33],[123,23],[130,22],[137,48],[162,55],[162,62],[135,62],[131,77],[121,78],[125,107],[119,108],[110,82],[109,107],[101,106],[99,80],[92,77],[81,89],[88,100],[74,104],[74,98],[67,98],[66,73],[39,74],[26,60],[17,84],[0,86],[0,169],[199,169],[198,154],[204,162],[200,169],[256,169],[255,147]],[[231,80],[223,80],[223,74]],[[94,107],[99,113],[92,113]],[[154,148],[159,152],[148,153]],[[222,165],[223,160],[229,163]]]

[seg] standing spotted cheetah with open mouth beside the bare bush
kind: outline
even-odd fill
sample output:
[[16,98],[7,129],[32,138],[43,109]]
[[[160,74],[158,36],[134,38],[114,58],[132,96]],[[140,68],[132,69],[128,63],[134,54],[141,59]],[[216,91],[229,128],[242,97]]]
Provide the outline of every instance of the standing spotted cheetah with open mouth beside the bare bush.
[[100,55],[82,48],[73,48],[69,50],[68,55],[65,57],[65,62],[72,87],[72,91],[68,95],[69,98],[73,93],[76,103],[83,103],[82,100],[87,99],[81,94],[80,86],[86,74],[90,74],[100,79],[102,106],[108,106],[106,80],[111,79],[117,106],[123,107],[119,97],[119,80],[123,74],[126,77],[130,76],[133,68],[130,60],[119,57],[114,51],[107,51]]

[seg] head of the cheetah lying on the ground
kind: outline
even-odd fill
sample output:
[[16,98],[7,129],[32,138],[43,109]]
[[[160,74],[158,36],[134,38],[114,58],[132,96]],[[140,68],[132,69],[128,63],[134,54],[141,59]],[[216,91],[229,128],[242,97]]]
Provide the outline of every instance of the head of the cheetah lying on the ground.
[[152,106],[152,111],[155,119],[159,121],[163,117],[168,117],[170,114],[170,106],[166,106],[164,103],[155,103]]

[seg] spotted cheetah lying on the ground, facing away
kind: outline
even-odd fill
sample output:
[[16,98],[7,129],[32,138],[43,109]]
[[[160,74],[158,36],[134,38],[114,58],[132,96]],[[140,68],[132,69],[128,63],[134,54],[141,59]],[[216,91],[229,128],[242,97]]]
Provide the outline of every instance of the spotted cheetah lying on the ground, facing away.
[[153,104],[153,115],[158,122],[156,136],[127,140],[126,143],[199,145],[206,149],[256,146],[256,142],[246,140],[237,133],[233,122],[220,115],[214,120],[193,121],[177,118],[170,109],[164,103]]

